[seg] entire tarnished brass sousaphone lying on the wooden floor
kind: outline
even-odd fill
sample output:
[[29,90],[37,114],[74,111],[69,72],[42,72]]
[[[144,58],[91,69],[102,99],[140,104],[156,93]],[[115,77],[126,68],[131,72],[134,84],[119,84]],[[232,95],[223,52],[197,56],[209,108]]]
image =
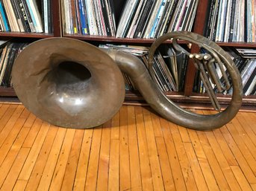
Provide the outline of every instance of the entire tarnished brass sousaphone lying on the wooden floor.
[[[216,114],[196,114],[169,100],[154,82],[152,62],[159,45],[172,39],[177,51],[193,59]],[[190,54],[178,39],[204,48]],[[56,126],[87,129],[110,120],[122,106],[128,74],[147,103],[162,117],[190,129],[207,130],[228,123],[242,103],[242,80],[231,57],[214,42],[190,32],[166,33],[149,51],[149,68],[136,56],[96,48],[69,38],[42,39],[28,45],[16,58],[12,80],[16,95],[37,117]],[[219,65],[222,78],[216,74]],[[122,71],[122,72],[121,72]],[[209,80],[210,79],[210,80]],[[221,92],[233,88],[231,103],[222,110],[212,84]]]

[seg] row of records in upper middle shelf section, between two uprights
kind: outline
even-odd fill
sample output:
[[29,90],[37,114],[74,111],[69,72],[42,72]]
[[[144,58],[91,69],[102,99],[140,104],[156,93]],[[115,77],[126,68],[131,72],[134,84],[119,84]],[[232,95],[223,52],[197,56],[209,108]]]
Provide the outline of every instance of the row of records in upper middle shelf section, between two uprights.
[[[65,33],[157,38],[170,31],[190,31],[199,0],[127,0],[119,10],[114,10],[113,0],[61,3]],[[116,11],[121,11],[120,18]]]

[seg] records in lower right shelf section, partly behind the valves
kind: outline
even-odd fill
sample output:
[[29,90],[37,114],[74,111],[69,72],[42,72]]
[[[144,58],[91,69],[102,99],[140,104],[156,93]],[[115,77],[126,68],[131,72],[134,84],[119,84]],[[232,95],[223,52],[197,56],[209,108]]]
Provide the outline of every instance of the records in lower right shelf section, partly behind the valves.
[[[240,71],[242,82],[243,82],[243,94],[255,95],[256,94],[256,50],[255,49],[243,49],[243,48],[225,48],[233,59],[235,65],[237,65]],[[222,72],[220,71],[218,65],[216,65],[216,71],[219,79],[222,81]],[[228,73],[227,73],[228,75]],[[213,85],[213,89],[216,87]],[[232,86],[228,91],[218,92],[222,94],[232,94]],[[199,74],[194,82],[194,89],[198,93],[205,93],[205,87],[201,79],[199,79]]]

